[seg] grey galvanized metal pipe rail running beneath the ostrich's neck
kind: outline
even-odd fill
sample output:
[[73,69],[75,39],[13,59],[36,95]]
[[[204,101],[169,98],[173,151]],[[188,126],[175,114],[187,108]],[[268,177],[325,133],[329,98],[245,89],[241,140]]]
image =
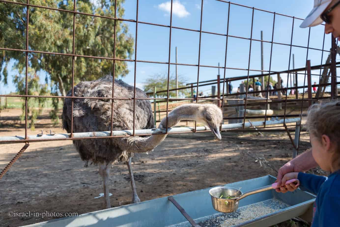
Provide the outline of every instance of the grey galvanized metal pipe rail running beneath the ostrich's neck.
[[[251,128],[251,127],[258,127],[266,125],[276,125],[276,124],[283,124],[284,119],[281,120],[270,120],[270,121],[255,121],[255,122],[246,122],[244,124],[244,128]],[[290,118],[286,119],[285,123],[296,123],[301,122],[301,118]],[[228,129],[241,129],[243,128],[242,123],[235,123],[235,124],[222,124],[222,130]],[[168,128],[168,133],[189,133],[194,132],[194,127],[174,127]],[[207,126],[199,126],[196,127],[198,132],[202,131],[210,131],[209,127]],[[24,143],[24,142],[42,142],[42,141],[54,141],[54,140],[75,140],[75,139],[86,139],[86,138],[113,138],[113,137],[129,137],[129,136],[145,136],[145,135],[155,135],[155,134],[165,134],[166,129],[136,129],[135,133],[133,130],[115,130],[112,131],[104,131],[104,132],[85,132],[85,133],[73,133],[72,137],[70,133],[65,134],[55,134],[55,135],[31,135],[28,136],[28,139],[25,139],[23,136],[5,136],[0,137],[0,144],[7,144],[7,143]],[[112,135],[112,136],[111,136]]]

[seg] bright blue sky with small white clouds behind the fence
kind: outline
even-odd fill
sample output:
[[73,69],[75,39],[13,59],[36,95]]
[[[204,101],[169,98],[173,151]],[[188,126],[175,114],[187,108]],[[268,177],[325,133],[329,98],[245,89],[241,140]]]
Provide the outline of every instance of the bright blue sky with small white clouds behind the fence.
[[[299,18],[305,16],[312,9],[312,0],[234,0],[234,3],[247,5],[271,12],[291,15]],[[123,4],[125,8],[125,19],[136,19],[136,1],[127,0]],[[170,24],[170,1],[139,1],[138,20],[157,23]],[[228,4],[215,0],[204,0],[203,5],[203,19],[202,31],[215,32],[226,34],[227,28],[227,14]],[[175,27],[183,27],[194,30],[200,29],[201,16],[201,1],[173,1],[173,17],[172,25]],[[231,5],[229,18],[229,35],[241,36],[250,38],[251,33],[251,19],[252,9],[237,5]],[[274,42],[290,44],[292,18],[276,15]],[[293,45],[307,46],[308,29],[301,29],[299,25],[302,20],[294,20],[293,30]],[[133,22],[126,22],[129,25],[130,33],[135,37],[136,25]],[[263,31],[263,39],[271,41],[273,26],[273,14],[261,11],[254,11],[253,23],[253,38],[260,39],[260,31]],[[310,34],[310,44],[312,48],[322,49],[323,40],[323,25],[313,27]],[[330,48],[330,35],[325,37],[325,50]],[[212,34],[202,33],[201,40],[201,65],[217,66],[220,63],[224,65],[226,37]],[[192,31],[184,31],[179,29],[172,29],[171,37],[171,58],[170,62],[175,62],[175,47],[178,48],[178,62],[186,64],[198,64],[198,50],[199,50],[199,33]],[[250,40],[228,38],[227,50],[227,67],[232,68],[248,68]],[[270,62],[270,43],[263,43],[264,48],[264,70],[269,70]],[[287,70],[289,64],[289,46],[273,45],[271,70],[280,71]],[[306,64],[307,49],[292,47],[292,54],[295,56],[295,68],[304,67]],[[138,24],[138,39],[137,39],[137,59],[150,60],[158,62],[167,62],[169,54],[169,28]],[[328,56],[328,52],[324,52],[323,63]],[[134,59],[135,56],[132,56]],[[337,58],[339,58],[337,56]],[[319,65],[321,63],[321,51],[309,50],[308,59],[311,60],[311,65]],[[11,67],[11,65],[10,65]],[[125,82],[132,84],[134,82],[134,63],[128,62],[130,73],[122,78]],[[291,67],[292,69],[292,59]],[[250,69],[261,69],[260,58],[260,42],[252,41]],[[9,70],[10,71],[10,70]],[[188,83],[197,81],[197,67],[193,66],[178,66],[179,76],[185,78]],[[152,64],[152,63],[137,63],[137,87],[142,88],[146,78],[151,77],[157,73],[167,73],[168,65],[166,64]],[[8,93],[14,91],[12,76],[15,72],[10,71],[8,82],[10,84],[6,87],[1,85],[1,93]],[[175,66],[170,66],[170,73],[175,73]],[[247,75],[244,70],[226,70],[226,77],[235,77]],[[312,73],[319,74],[320,70],[315,70]],[[218,74],[218,69],[200,67],[199,80],[215,79]],[[223,69],[220,70],[223,78]],[[256,71],[250,71],[250,75],[259,74]],[[40,72],[41,81],[44,81],[44,72]],[[274,76],[276,79],[276,76]],[[283,74],[282,78],[287,81],[287,75]],[[312,82],[318,81],[318,76],[312,76]],[[303,85],[304,75],[299,75],[299,85]],[[234,88],[238,87],[240,82],[233,82]],[[306,82],[307,84],[307,82]],[[202,88],[209,90],[211,87]],[[201,88],[200,88],[201,89]]]

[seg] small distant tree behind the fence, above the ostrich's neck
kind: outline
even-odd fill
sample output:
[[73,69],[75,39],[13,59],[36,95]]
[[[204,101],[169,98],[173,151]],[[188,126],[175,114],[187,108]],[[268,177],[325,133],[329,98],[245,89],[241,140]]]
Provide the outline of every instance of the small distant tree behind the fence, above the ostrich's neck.
[[[178,87],[186,87],[187,81],[185,78],[180,77],[178,79]],[[146,83],[143,87],[145,92],[153,92],[154,87],[157,91],[163,91],[168,89],[168,74],[167,73],[157,73],[146,79]],[[176,88],[176,77],[175,75],[170,75],[169,78],[169,89]],[[186,96],[190,94],[189,89],[182,89],[178,91],[179,96]],[[153,95],[149,95],[153,97]],[[167,92],[157,93],[157,97],[164,98],[167,96]],[[176,91],[169,91],[169,97],[176,97]]]

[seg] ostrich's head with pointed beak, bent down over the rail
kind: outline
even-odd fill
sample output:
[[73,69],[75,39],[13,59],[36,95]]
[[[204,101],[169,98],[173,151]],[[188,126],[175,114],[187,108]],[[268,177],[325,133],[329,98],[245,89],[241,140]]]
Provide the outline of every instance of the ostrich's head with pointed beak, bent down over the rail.
[[220,125],[223,120],[221,109],[214,104],[202,105],[203,110],[201,111],[201,123],[208,124],[212,134],[217,139],[221,139]]

